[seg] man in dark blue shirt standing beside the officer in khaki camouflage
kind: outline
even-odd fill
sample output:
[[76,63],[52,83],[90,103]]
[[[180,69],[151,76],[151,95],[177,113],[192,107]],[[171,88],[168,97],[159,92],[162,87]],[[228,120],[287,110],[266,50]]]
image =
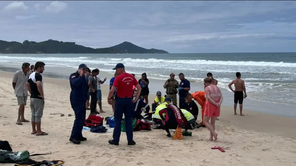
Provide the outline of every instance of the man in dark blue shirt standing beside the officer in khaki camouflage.
[[179,74],[179,79],[181,80],[179,84],[179,108],[180,109],[186,109],[186,102],[185,102],[185,97],[186,93],[189,93],[190,90],[190,82],[185,79],[184,74],[180,73]]

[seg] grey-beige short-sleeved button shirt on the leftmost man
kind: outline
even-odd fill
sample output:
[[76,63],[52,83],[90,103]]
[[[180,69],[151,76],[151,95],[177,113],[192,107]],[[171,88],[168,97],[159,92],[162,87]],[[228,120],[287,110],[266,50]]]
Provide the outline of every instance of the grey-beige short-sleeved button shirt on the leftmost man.
[[29,78],[29,72],[27,72],[26,75],[22,70],[15,72],[12,78],[12,82],[15,83],[15,95],[17,96],[28,95],[28,89],[26,87],[28,78]]

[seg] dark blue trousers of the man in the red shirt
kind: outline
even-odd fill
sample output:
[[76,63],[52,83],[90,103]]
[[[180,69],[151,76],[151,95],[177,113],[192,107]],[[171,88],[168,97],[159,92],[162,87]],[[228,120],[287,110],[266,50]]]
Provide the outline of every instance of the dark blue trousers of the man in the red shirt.
[[128,142],[133,141],[133,128],[131,117],[133,113],[133,101],[131,98],[116,98],[114,108],[115,127],[113,131],[113,142],[118,143],[121,134],[121,121],[124,114],[126,121],[126,137]]

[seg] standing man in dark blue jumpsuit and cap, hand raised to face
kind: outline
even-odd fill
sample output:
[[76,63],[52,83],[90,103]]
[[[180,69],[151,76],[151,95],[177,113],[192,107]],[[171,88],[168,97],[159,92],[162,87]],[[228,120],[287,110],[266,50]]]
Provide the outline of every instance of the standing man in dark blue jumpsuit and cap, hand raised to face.
[[86,141],[82,136],[82,129],[85,121],[88,83],[84,74],[86,73],[86,64],[80,64],[78,71],[70,75],[70,103],[75,113],[75,121],[73,124],[70,141],[73,144],[80,144],[80,141]]

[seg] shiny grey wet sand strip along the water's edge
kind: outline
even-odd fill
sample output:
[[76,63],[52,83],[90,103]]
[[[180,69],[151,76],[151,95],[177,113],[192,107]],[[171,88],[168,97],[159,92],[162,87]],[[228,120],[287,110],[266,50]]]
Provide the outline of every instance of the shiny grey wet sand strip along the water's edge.
[[[0,71],[8,71],[14,73],[15,71],[20,70],[18,64],[2,64],[0,63]],[[71,67],[53,67],[53,66],[46,66],[45,71],[43,73],[44,77],[49,78],[59,78],[59,79],[69,79],[70,73],[75,72],[75,68]],[[106,83],[109,84],[110,78],[113,77],[113,74],[107,71],[100,71],[99,76],[101,79],[107,77]],[[136,74],[136,79],[140,79],[139,74]],[[157,91],[161,91],[162,94],[165,94],[165,89],[163,89],[163,83],[165,80],[161,79],[149,79],[149,97],[154,96]],[[191,90],[189,92],[195,92],[198,90],[203,90],[204,85],[197,82],[191,82]],[[223,106],[231,107],[233,109],[233,93],[229,92],[228,89],[221,88],[221,92],[223,94]],[[178,95],[177,95],[178,98]],[[154,98],[153,98],[154,99]],[[288,104],[281,104],[281,103],[273,103],[268,101],[260,101],[255,100],[247,97],[244,99],[243,103],[243,113],[245,111],[256,111],[260,113],[268,113],[273,115],[280,115],[283,117],[290,117],[296,119],[296,110],[295,105],[288,105]],[[237,112],[239,111],[239,107],[237,108]]]

